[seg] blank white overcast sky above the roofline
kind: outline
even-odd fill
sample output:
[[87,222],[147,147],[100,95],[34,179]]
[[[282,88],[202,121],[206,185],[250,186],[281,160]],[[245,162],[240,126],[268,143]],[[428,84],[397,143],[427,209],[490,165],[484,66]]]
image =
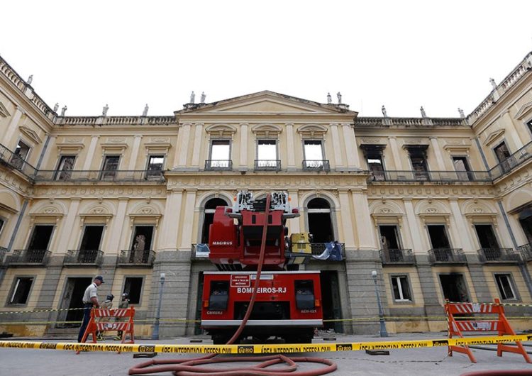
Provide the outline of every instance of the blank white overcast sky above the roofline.
[[470,114],[532,50],[532,1],[5,1],[0,55],[67,115],[271,90],[359,116]]

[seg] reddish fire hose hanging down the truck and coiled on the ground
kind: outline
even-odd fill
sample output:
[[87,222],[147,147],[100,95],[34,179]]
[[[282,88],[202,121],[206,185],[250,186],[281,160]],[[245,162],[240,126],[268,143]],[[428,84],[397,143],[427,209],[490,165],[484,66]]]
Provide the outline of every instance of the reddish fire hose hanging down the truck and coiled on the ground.
[[[260,257],[257,266],[257,278],[253,286],[253,294],[250,299],[248,310],[245,312],[244,319],[233,334],[227,345],[231,345],[236,341],[240,333],[245,328],[245,324],[250,318],[257,291],[260,282],[260,273],[262,271],[262,263],[265,256],[266,232],[268,226],[268,215],[270,213],[271,194],[266,197],[265,221],[262,228],[262,243],[260,245]],[[145,363],[129,369],[129,375],[146,375],[157,372],[172,372],[175,376],[200,376],[200,375],[215,375],[215,376],[318,376],[326,375],[329,372],[336,370],[336,363],[324,358],[309,358],[309,357],[292,357],[286,355],[267,355],[267,356],[240,356],[231,358],[215,358],[216,354],[209,354],[201,358],[192,359],[165,359],[165,360],[149,360]],[[233,363],[233,362],[261,362],[250,367],[212,367],[207,365],[214,365],[216,363]],[[321,367],[314,370],[297,371],[297,363],[321,363],[326,367]],[[267,370],[271,365],[284,363],[284,367],[275,367],[275,369]]]

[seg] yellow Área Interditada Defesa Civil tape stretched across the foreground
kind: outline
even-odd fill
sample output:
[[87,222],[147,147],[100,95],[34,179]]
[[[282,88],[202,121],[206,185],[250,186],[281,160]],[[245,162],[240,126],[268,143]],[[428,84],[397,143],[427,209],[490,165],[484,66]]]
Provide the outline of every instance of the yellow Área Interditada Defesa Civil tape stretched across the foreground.
[[532,341],[532,335],[441,338],[414,341],[375,341],[350,343],[308,343],[272,345],[137,345],[106,343],[65,343],[0,341],[0,348],[23,348],[72,351],[111,351],[126,353],[194,353],[194,354],[273,354],[324,353],[332,351],[388,350],[403,348],[431,348],[448,345],[490,345],[516,341]]

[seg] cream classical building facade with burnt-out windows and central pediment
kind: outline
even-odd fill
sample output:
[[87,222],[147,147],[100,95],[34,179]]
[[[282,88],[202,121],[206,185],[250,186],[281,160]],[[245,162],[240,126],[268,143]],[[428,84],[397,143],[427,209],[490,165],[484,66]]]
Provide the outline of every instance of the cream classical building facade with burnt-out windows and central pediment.
[[[291,233],[343,243],[321,270],[326,326],[440,331],[443,302],[532,303],[532,53],[469,116],[359,117],[259,92],[168,116],[65,116],[0,59],[0,331],[72,331],[94,275],[149,336],[199,331],[196,253],[235,192],[289,192]],[[527,315],[509,306],[512,322]]]

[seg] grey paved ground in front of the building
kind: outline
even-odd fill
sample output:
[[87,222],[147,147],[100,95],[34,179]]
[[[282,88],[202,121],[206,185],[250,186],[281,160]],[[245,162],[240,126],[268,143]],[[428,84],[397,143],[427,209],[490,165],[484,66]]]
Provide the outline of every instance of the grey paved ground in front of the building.
[[[211,343],[205,337],[203,343]],[[389,339],[415,340],[428,338],[445,338],[444,333],[423,333],[394,335],[390,338],[375,336],[343,336],[336,335],[336,342],[362,342],[381,341]],[[75,342],[70,338],[43,339],[43,338],[9,338],[13,340],[28,341],[55,341]],[[138,340],[137,343],[190,343],[192,338],[174,338],[170,340],[150,341]],[[106,343],[116,341],[106,340]],[[118,343],[118,342],[116,342]],[[316,338],[314,343],[330,343],[323,338]],[[532,353],[531,347],[527,350]],[[321,356],[331,359],[338,365],[338,370],[329,375],[461,375],[465,372],[480,370],[529,370],[532,375],[532,365],[524,362],[521,355],[504,353],[499,358],[497,353],[489,350],[473,350],[477,357],[477,364],[470,363],[462,354],[455,353],[453,357],[447,356],[447,348],[421,348],[414,350],[389,350],[390,355],[368,355],[363,351],[336,352],[321,354],[294,354],[294,356]],[[160,354],[154,359],[192,358],[193,355]],[[128,369],[146,359],[134,359],[131,353],[81,353],[62,350],[19,350],[15,348],[0,348],[0,375],[128,375]],[[307,370],[315,365],[301,365],[301,370]],[[172,376],[170,372],[163,374]]]

